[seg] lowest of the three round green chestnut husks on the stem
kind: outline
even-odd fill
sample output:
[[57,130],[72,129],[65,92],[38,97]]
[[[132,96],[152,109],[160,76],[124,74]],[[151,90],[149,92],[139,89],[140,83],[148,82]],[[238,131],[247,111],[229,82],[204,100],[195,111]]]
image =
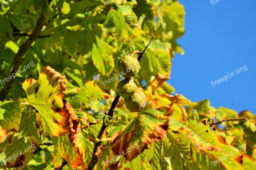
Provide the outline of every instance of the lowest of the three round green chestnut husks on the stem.
[[124,98],[124,102],[129,111],[140,112],[146,106],[147,99],[142,91],[137,90],[132,97]]

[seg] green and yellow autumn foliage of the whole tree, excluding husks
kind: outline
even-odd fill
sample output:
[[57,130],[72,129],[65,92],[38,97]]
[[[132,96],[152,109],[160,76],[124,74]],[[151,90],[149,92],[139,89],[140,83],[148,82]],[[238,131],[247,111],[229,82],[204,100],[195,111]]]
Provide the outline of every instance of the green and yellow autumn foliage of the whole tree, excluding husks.
[[[171,95],[175,89],[166,80],[175,53],[183,54],[176,39],[184,34],[184,17],[177,0],[1,6],[0,80],[13,68],[22,73],[0,103],[0,169],[91,169],[92,158],[94,169],[252,169],[251,112]],[[119,75],[118,59],[143,50],[153,35],[134,77],[147,105],[130,112],[123,98],[115,99],[122,78],[112,77]],[[108,113],[113,101],[114,116]]]

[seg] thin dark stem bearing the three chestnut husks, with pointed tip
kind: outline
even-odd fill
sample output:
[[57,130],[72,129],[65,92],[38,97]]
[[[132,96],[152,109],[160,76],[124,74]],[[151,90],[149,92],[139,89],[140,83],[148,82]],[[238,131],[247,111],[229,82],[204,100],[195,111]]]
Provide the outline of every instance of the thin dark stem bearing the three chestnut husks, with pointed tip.
[[[152,39],[153,38],[154,38],[154,36],[152,37]],[[152,39],[151,39],[151,41],[152,41]],[[151,43],[151,41],[148,43],[148,45]],[[144,51],[142,53],[140,51],[138,51],[138,50],[135,50],[135,51],[133,51],[131,53],[130,56],[133,57],[134,54],[139,54],[138,61],[140,62],[141,58],[143,57],[143,54],[144,54],[145,50],[148,48],[148,45],[144,49]],[[116,97],[115,97],[114,101],[112,102],[111,107],[109,109],[109,112],[107,114],[108,116],[110,116],[109,120],[111,120],[113,118],[113,116],[114,116],[114,111],[115,111],[115,108],[116,108],[116,105],[118,103],[119,98],[120,98],[120,96],[118,94],[116,94]],[[103,138],[103,135],[105,134],[105,130],[107,129],[107,127],[108,127],[108,125],[105,125],[104,122],[103,122],[103,124],[102,124],[102,126],[100,128],[100,133],[98,135],[98,139],[100,140],[100,142],[94,144],[93,153],[92,153],[92,159],[91,159],[91,161],[90,161],[90,163],[88,165],[88,169],[92,170],[94,168],[94,166],[97,164],[97,162],[99,161],[95,154],[96,154],[97,151],[100,150],[100,144],[102,143],[101,140]]]

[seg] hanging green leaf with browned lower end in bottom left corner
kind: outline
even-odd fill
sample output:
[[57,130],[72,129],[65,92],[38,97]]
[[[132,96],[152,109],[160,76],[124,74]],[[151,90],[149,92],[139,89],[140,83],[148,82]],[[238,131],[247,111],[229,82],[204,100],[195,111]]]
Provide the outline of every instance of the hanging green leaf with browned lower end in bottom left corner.
[[[19,132],[13,133],[11,137],[7,138],[8,143],[0,145],[0,148],[4,148],[4,154],[0,161],[9,158],[8,168],[24,167],[32,159],[36,146],[41,143],[40,131],[36,128],[38,121],[35,110],[31,107],[26,107],[23,113],[24,116],[20,121]],[[3,166],[0,164],[0,168],[4,167],[6,167],[6,163]]]

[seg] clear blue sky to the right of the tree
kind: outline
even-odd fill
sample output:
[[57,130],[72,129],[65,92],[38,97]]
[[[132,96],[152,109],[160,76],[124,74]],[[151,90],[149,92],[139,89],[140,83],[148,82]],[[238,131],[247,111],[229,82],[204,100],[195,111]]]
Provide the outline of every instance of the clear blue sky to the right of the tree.
[[[180,0],[186,11],[185,35],[178,39],[185,54],[172,60],[176,93],[193,102],[208,98],[212,106],[256,113],[256,1]],[[220,82],[227,73],[242,72]],[[245,67],[244,67],[245,68]],[[237,71],[238,72],[238,71]],[[230,74],[229,74],[230,75]]]

